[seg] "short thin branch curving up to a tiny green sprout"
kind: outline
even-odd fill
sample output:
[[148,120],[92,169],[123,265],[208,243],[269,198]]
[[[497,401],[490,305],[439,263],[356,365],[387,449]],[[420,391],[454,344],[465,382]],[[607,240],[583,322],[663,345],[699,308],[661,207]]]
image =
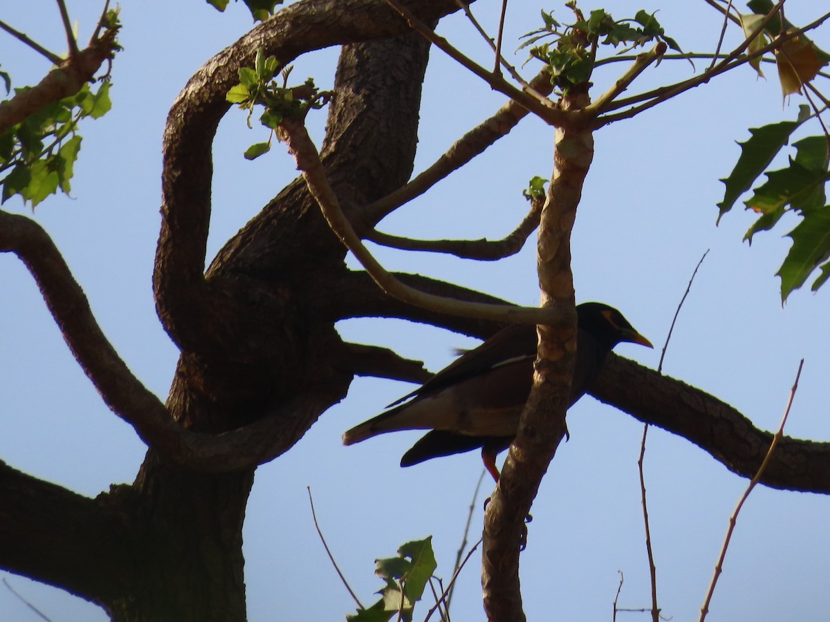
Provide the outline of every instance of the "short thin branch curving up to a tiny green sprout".
[[501,240],[412,240],[406,237],[390,236],[381,231],[370,231],[366,239],[375,244],[402,250],[425,250],[432,253],[447,253],[461,259],[495,261],[515,255],[525,245],[536,227],[542,212],[542,201],[530,202],[530,211],[508,236]]

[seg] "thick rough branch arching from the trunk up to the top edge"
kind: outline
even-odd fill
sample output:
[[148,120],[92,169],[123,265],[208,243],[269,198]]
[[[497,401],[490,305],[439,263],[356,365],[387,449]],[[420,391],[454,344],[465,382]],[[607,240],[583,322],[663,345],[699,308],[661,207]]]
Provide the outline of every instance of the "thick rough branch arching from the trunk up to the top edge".
[[[409,2],[427,22],[457,10],[452,0]],[[186,351],[234,347],[244,313],[203,276],[211,211],[212,141],[230,104],[227,91],[256,51],[287,65],[307,51],[409,32],[382,0],[306,0],[262,22],[214,56],[188,81],[164,130],[162,228],[154,292],[164,328]]]

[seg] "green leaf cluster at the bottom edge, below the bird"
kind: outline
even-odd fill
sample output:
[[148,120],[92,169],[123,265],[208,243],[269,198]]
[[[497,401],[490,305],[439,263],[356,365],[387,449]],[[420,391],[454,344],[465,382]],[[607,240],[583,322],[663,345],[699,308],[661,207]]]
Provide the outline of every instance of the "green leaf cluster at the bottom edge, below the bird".
[[375,560],[374,574],[386,585],[378,591],[380,599],[371,607],[347,615],[349,622],[387,622],[393,615],[396,620],[410,622],[413,608],[421,600],[437,563],[432,552],[432,536],[407,542],[398,549],[397,557]]

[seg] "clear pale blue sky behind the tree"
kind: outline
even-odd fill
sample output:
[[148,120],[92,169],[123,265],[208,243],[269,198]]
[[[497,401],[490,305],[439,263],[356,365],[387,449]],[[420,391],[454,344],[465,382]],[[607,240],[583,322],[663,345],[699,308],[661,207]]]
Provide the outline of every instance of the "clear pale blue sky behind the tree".
[[[477,2],[486,27],[494,2]],[[788,8],[806,21],[806,3]],[[660,9],[666,32],[689,51],[711,49],[718,14],[705,2],[614,2],[616,17]],[[99,2],[69,2],[89,36]],[[513,2],[508,41],[539,23],[536,2]],[[597,5],[583,3],[583,10]],[[789,5],[788,5],[789,7]],[[815,10],[815,9],[813,9]],[[557,9],[563,19],[566,9]],[[113,68],[114,109],[86,123],[72,197],[51,197],[37,219],[56,240],[92,308],[122,357],[147,386],[165,396],[176,351],[159,325],[151,291],[159,231],[161,135],[169,105],[189,75],[251,26],[241,3],[219,14],[199,0],[128,2],[122,7],[125,50]],[[803,17],[803,19],[802,19]],[[815,17],[815,16],[813,16]],[[0,18],[61,52],[65,41],[53,2],[5,2]],[[491,56],[462,17],[442,23],[442,34],[489,64]],[[730,29],[726,46],[734,46]],[[816,38],[828,48],[828,28]],[[301,59],[295,74],[328,87],[336,51]],[[516,63],[523,61],[516,57]],[[0,34],[0,66],[14,85],[40,79],[48,64]],[[697,69],[701,70],[702,64]],[[596,76],[597,91],[623,66]],[[697,261],[710,254],[681,312],[664,372],[727,401],[759,427],[773,430],[801,357],[806,359],[790,417],[789,435],[830,439],[825,377],[830,335],[828,295],[798,291],[782,308],[774,277],[789,241],[784,229],[741,242],[752,217],[740,210],[715,227],[719,177],[729,172],[747,128],[792,119],[782,108],[774,70],[758,80],[751,70],[701,86],[637,119],[598,132],[596,157],[574,230],[577,299],[602,300],[625,313],[655,351],[623,345],[618,352],[657,367],[671,317]],[[530,67],[528,70],[530,74]],[[635,87],[691,75],[686,62],[664,62]],[[416,168],[437,158],[458,136],[492,114],[500,95],[434,52],[427,74]],[[311,123],[315,136],[325,111]],[[208,260],[295,175],[279,147],[256,163],[242,158],[264,138],[233,111],[220,127]],[[553,132],[526,120],[491,152],[426,197],[384,221],[383,231],[421,237],[498,238],[524,216],[521,189],[534,175],[549,177]],[[12,200],[4,209],[31,214]],[[794,223],[789,223],[793,226]],[[787,224],[785,223],[784,228]],[[498,264],[378,250],[390,269],[452,279],[521,304],[536,304],[535,255],[529,244]],[[76,366],[46,313],[32,278],[12,255],[0,255],[0,458],[27,473],[95,495],[131,482],[144,446],[112,415]],[[825,288],[827,289],[827,288]],[[473,340],[437,328],[376,319],[344,323],[350,340],[394,347],[437,370],[452,347]],[[391,556],[408,540],[432,534],[445,579],[461,539],[466,511],[481,473],[477,454],[399,469],[417,433],[386,435],[345,448],[340,435],[383,410],[412,386],[354,381],[349,396],[326,412],[288,454],[257,471],[244,532],[249,616],[265,620],[337,620],[354,610],[311,522],[306,486],[315,496],[320,526],[354,590],[369,603],[380,582],[374,558]],[[571,440],[562,445],[535,503],[530,543],[522,554],[525,610],[530,620],[608,620],[625,574],[619,603],[647,607],[647,561],[637,484],[642,425],[629,415],[585,398],[569,414]],[[646,457],[652,540],[660,604],[675,620],[696,618],[728,517],[745,487],[701,449],[652,430]],[[486,491],[486,492],[489,492]],[[824,620],[830,610],[830,499],[759,488],[741,514],[709,620]],[[476,502],[471,535],[481,525]],[[51,620],[104,620],[100,610],[58,590],[0,573]],[[461,576],[456,620],[483,620],[479,564]],[[0,586],[0,619],[39,620]]]

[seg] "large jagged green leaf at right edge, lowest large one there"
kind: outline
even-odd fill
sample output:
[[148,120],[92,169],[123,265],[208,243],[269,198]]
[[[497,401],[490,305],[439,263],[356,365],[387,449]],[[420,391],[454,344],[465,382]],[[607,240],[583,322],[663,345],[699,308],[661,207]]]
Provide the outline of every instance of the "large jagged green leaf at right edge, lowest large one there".
[[[787,300],[793,289],[798,289],[810,273],[830,257],[830,206],[804,212],[803,220],[787,234],[793,239],[784,263],[776,275],[781,277],[781,302]],[[827,265],[823,274],[813,283],[818,289],[827,280]]]

